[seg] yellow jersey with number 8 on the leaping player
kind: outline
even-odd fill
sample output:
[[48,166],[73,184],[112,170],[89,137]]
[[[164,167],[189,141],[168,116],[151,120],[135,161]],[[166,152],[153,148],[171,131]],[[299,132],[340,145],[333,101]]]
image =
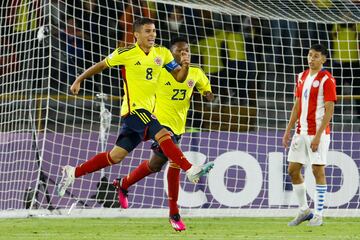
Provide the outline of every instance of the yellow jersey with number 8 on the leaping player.
[[171,72],[179,66],[169,49],[155,45],[145,54],[137,43],[127,48],[115,49],[105,58],[105,63],[108,67],[121,66],[125,92],[121,116],[135,109],[152,112],[161,70],[165,66],[165,69]]

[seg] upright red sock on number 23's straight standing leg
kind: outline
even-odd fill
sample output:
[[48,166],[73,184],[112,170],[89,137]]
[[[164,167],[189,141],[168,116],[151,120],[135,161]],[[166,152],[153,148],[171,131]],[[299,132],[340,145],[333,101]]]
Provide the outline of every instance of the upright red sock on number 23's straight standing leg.
[[167,175],[170,216],[179,213],[177,200],[179,196],[180,169],[174,165],[170,163]]

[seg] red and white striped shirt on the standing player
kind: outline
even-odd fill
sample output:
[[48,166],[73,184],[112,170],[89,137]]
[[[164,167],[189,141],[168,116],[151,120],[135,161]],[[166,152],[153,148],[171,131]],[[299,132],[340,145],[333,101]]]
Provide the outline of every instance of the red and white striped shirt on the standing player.
[[[300,100],[296,132],[315,135],[325,115],[325,102],[335,102],[337,99],[334,77],[327,70],[311,76],[310,69],[307,69],[300,73],[296,80],[295,96]],[[330,124],[325,133],[330,133]]]

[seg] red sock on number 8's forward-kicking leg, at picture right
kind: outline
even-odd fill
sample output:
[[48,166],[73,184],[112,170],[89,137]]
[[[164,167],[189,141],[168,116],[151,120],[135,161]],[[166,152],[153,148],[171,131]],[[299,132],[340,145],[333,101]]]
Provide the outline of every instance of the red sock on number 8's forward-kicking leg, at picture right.
[[175,145],[171,138],[165,139],[159,142],[161,150],[174,163],[180,166],[184,171],[187,171],[191,168],[191,163],[185,158],[184,154],[180,149]]

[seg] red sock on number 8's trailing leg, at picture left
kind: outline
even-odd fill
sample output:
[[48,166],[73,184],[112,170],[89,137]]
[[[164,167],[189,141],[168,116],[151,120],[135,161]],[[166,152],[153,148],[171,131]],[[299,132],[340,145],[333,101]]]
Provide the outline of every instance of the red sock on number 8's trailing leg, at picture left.
[[110,153],[102,152],[75,168],[75,177],[81,177],[114,164]]

